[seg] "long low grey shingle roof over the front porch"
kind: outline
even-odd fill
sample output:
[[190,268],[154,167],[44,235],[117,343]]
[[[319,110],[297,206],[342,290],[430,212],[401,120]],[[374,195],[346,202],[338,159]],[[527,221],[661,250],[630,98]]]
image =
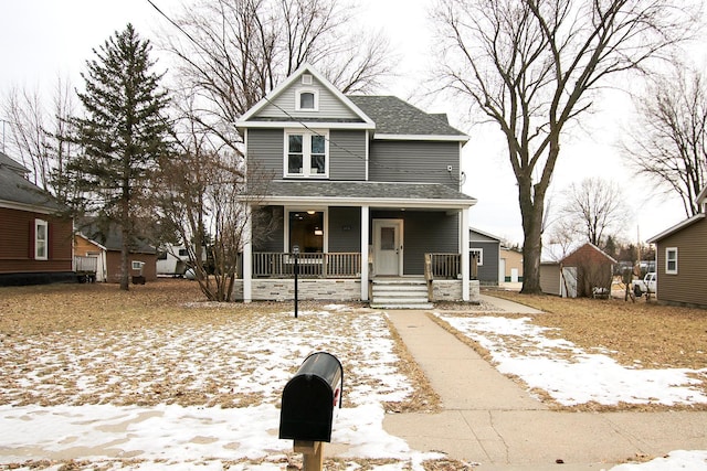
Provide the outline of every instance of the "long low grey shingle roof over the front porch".
[[473,205],[476,200],[450,186],[439,183],[388,183],[388,182],[341,182],[341,181],[302,181],[275,180],[268,183],[265,199],[306,199],[326,200],[376,200],[400,202],[429,202],[434,204],[454,202],[458,205]]

